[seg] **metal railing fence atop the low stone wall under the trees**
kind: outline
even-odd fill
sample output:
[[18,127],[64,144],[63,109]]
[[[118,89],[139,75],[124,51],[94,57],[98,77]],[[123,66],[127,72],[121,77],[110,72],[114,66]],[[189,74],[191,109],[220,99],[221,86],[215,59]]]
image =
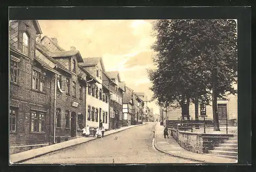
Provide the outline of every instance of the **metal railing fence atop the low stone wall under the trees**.
[[[228,134],[228,128],[230,125],[236,126],[236,119],[228,120],[227,118],[225,120],[219,120],[219,128],[220,130],[226,130],[226,134]],[[203,133],[206,133],[207,128],[214,128],[214,119],[197,119],[193,120],[182,120],[182,118],[178,118],[178,120],[172,120],[172,121],[166,121],[166,125],[169,128],[174,128],[175,130],[179,131],[189,131],[193,133],[193,131],[196,129],[202,129]]]

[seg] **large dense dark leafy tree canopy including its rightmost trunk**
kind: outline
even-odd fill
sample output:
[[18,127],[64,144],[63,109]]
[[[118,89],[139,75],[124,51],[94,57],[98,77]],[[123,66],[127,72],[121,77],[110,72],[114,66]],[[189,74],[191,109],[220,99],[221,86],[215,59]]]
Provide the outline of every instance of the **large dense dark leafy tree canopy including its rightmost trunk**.
[[226,92],[236,94],[232,88],[237,78],[236,22],[158,20],[153,29],[157,66],[157,70],[149,71],[153,98],[174,107],[184,107],[185,100],[196,106],[212,100],[214,130],[219,131],[217,98]]

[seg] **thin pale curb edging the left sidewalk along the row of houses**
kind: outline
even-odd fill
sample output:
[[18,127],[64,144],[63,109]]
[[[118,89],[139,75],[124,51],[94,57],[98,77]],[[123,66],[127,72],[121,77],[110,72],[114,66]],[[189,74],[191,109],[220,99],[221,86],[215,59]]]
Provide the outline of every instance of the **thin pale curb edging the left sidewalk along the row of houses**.
[[[139,124],[139,125],[134,125],[133,127],[141,126],[141,125],[145,125],[145,124],[146,124],[146,123]],[[115,133],[119,133],[119,132],[122,132],[122,131],[124,131],[124,130],[130,129],[130,128],[133,128],[133,127],[125,128],[125,129],[119,130],[119,131],[117,131],[117,132],[115,132]],[[104,135],[104,136],[109,136],[109,135],[112,135],[112,134],[115,134],[115,133],[106,134],[106,135]],[[36,155],[36,156],[30,157],[30,158],[26,158],[26,159],[23,159],[23,160],[19,160],[19,161],[16,161],[16,162],[10,162],[10,165],[12,165],[12,164],[14,164],[14,163],[15,163],[15,164],[16,164],[16,163],[22,163],[22,162],[25,162],[25,161],[28,161],[28,160],[31,160],[31,159],[34,159],[34,158],[38,158],[38,157],[40,157],[40,156],[44,156],[44,155],[47,155],[47,154],[50,154],[50,153],[53,153],[53,152],[57,152],[57,151],[59,151],[59,150],[63,150],[63,149],[66,149],[66,148],[70,148],[70,147],[72,147],[72,146],[77,146],[77,145],[80,145],[80,144],[83,144],[83,143],[87,143],[87,142],[90,142],[90,141],[96,140],[96,139],[98,139],[98,138],[93,138],[93,139],[91,139],[91,140],[87,140],[87,141],[84,141],[84,142],[81,142],[81,143],[73,144],[73,145],[70,145],[70,146],[67,146],[67,147],[61,147],[61,148],[59,148],[59,149],[51,150],[50,152],[42,153],[42,154],[40,154],[40,155]]]

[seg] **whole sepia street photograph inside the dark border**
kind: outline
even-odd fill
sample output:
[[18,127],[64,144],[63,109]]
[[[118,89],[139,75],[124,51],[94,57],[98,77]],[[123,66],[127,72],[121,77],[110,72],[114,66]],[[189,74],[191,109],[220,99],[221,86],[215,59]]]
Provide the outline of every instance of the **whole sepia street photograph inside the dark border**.
[[10,164],[238,162],[238,20],[9,20]]

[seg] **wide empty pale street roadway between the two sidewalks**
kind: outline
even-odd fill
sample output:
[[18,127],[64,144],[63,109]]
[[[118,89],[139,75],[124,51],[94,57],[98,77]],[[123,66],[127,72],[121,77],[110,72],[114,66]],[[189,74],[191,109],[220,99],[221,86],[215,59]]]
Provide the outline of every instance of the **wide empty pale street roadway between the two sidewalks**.
[[148,122],[127,130],[59,150],[23,164],[145,164],[197,163],[156,150],[153,136],[156,123]]

